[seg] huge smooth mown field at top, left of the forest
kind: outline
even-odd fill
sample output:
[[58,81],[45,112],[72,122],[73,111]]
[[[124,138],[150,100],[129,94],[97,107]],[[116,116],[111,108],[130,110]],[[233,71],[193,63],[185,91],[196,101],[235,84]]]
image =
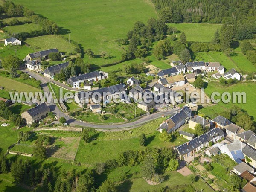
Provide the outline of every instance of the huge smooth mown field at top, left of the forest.
[[[123,52],[115,40],[125,38],[137,20],[146,22],[150,17],[157,17],[150,0],[62,0],[44,2],[35,0],[14,0],[55,21],[61,27],[60,33],[69,36],[84,49],[91,48],[96,55],[107,52],[108,59],[88,59],[85,61],[100,66],[121,59]],[[45,6],[47,4],[47,6]],[[42,9],[44,7],[44,9]],[[72,14],[63,14],[64,12]],[[52,14],[54,13],[54,14]],[[79,18],[79,19],[78,19]]]

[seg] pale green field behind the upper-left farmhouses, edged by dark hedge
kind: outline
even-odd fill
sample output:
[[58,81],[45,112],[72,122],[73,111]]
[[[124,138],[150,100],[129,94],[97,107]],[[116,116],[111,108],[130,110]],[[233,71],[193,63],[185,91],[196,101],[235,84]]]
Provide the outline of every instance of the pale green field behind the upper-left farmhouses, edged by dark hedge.
[[27,38],[25,43],[36,51],[57,48],[60,52],[75,52],[75,46],[58,35]]

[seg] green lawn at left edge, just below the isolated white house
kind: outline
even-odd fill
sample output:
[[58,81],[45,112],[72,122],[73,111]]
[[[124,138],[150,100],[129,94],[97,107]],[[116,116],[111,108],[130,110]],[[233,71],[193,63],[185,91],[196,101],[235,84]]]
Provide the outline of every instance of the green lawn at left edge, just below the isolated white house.
[[30,49],[26,45],[0,47],[0,59],[3,59],[8,55],[15,55],[15,50],[16,56],[22,60],[26,57],[27,54],[34,52],[34,50]]

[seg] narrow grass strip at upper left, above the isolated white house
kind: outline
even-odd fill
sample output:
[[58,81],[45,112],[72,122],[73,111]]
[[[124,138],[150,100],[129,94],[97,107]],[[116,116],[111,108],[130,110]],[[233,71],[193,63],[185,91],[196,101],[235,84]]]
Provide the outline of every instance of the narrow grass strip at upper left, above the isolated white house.
[[23,25],[14,25],[14,26],[6,26],[3,28],[10,34],[20,33],[20,32],[31,32],[36,30],[41,30],[41,26],[35,23],[25,23]]

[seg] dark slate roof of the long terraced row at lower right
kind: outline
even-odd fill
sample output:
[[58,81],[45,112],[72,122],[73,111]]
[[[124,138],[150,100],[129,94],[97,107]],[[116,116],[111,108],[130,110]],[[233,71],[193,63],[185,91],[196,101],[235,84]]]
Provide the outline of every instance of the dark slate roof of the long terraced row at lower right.
[[176,149],[180,153],[180,155],[187,154],[198,148],[200,145],[208,143],[209,141],[212,140],[213,137],[216,137],[217,135],[223,136],[224,132],[220,128],[211,129],[207,133],[202,134],[199,137],[196,137],[190,140],[189,142],[178,146]]

